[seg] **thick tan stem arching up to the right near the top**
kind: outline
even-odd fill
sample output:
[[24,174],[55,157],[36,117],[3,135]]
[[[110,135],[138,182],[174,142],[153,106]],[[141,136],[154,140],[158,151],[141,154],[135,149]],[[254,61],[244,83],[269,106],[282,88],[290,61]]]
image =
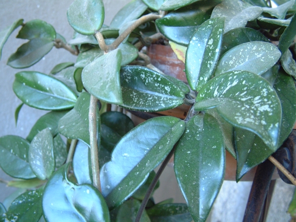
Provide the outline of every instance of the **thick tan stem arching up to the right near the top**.
[[138,26],[142,25],[143,23],[146,23],[150,20],[155,20],[161,18],[161,15],[157,14],[148,14],[144,15],[141,18],[137,19],[132,25],[130,25],[123,33],[120,34],[119,37],[113,41],[111,44],[111,50],[118,47],[118,45],[126,38],[128,35],[130,35]]

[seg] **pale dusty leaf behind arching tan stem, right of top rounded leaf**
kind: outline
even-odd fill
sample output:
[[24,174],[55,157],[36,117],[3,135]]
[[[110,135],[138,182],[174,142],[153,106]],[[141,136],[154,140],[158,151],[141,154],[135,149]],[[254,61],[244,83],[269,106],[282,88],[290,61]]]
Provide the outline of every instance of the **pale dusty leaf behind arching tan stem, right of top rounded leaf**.
[[139,18],[147,8],[142,0],[132,0],[116,13],[110,27],[119,29],[124,23]]

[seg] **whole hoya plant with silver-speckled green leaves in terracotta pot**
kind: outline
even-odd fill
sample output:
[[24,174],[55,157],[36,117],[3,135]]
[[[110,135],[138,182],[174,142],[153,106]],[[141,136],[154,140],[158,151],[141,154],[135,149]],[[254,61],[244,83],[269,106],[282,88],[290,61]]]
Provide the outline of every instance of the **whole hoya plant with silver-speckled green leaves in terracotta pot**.
[[[16,37],[28,40],[7,61],[15,69],[53,47],[77,59],[15,74],[16,119],[23,105],[48,112],[27,138],[0,138],[0,166],[15,178],[8,185],[26,188],[0,204],[0,221],[204,222],[226,150],[237,182],[266,159],[284,168],[271,155],[296,120],[295,12],[295,0],[132,0],[108,27],[102,0],[74,0],[73,39],[38,19],[2,30],[0,50],[19,27]],[[185,81],[151,64],[146,51],[155,43],[185,62]],[[161,115],[135,126],[127,115],[180,106],[184,119]],[[186,204],[155,203],[173,155]]]

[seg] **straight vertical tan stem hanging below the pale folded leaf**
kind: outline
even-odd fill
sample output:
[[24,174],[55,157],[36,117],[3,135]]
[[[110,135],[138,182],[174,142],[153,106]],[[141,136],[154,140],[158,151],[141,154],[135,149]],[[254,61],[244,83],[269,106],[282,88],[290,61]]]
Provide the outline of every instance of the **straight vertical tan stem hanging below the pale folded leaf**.
[[90,96],[89,104],[89,136],[90,136],[90,158],[91,158],[91,168],[93,173],[93,185],[98,188],[101,192],[101,182],[100,182],[100,167],[99,167],[99,157],[98,157],[98,129],[97,129],[97,103],[98,99],[93,95]]

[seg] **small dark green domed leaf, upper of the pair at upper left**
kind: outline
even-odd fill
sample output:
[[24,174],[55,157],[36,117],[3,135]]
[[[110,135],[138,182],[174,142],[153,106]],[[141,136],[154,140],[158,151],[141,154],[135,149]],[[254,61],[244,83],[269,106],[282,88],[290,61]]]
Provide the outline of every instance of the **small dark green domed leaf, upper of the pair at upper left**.
[[26,22],[17,35],[17,38],[33,39],[33,38],[46,38],[53,41],[56,38],[56,31],[52,25],[39,20],[31,20]]

